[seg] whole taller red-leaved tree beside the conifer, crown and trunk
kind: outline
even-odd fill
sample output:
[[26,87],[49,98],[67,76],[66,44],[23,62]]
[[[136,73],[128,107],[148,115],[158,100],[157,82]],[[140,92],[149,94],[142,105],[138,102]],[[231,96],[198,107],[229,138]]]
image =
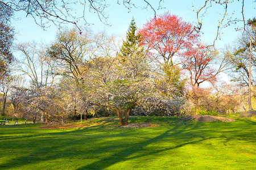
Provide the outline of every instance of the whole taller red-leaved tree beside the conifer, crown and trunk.
[[164,82],[174,89],[172,94],[183,94],[184,81],[180,80],[179,62],[174,63],[174,56],[181,58],[184,50],[191,48],[197,41],[197,34],[190,23],[177,15],[166,12],[148,20],[141,29],[141,44],[147,46],[156,62],[160,63]]

